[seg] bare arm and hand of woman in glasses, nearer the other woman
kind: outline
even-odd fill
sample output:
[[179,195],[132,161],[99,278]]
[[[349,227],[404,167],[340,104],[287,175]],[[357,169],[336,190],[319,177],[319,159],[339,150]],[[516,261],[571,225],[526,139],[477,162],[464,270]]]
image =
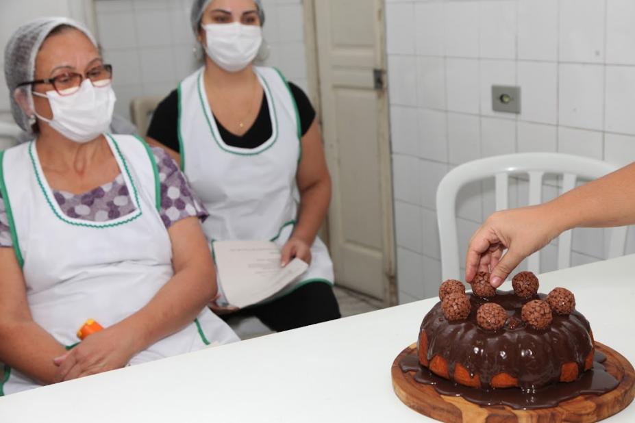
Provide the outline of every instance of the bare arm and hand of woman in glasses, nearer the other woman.
[[174,276],[139,311],[84,339],[58,357],[55,381],[121,368],[136,353],[192,322],[216,295],[216,274],[198,218],[174,223]]

